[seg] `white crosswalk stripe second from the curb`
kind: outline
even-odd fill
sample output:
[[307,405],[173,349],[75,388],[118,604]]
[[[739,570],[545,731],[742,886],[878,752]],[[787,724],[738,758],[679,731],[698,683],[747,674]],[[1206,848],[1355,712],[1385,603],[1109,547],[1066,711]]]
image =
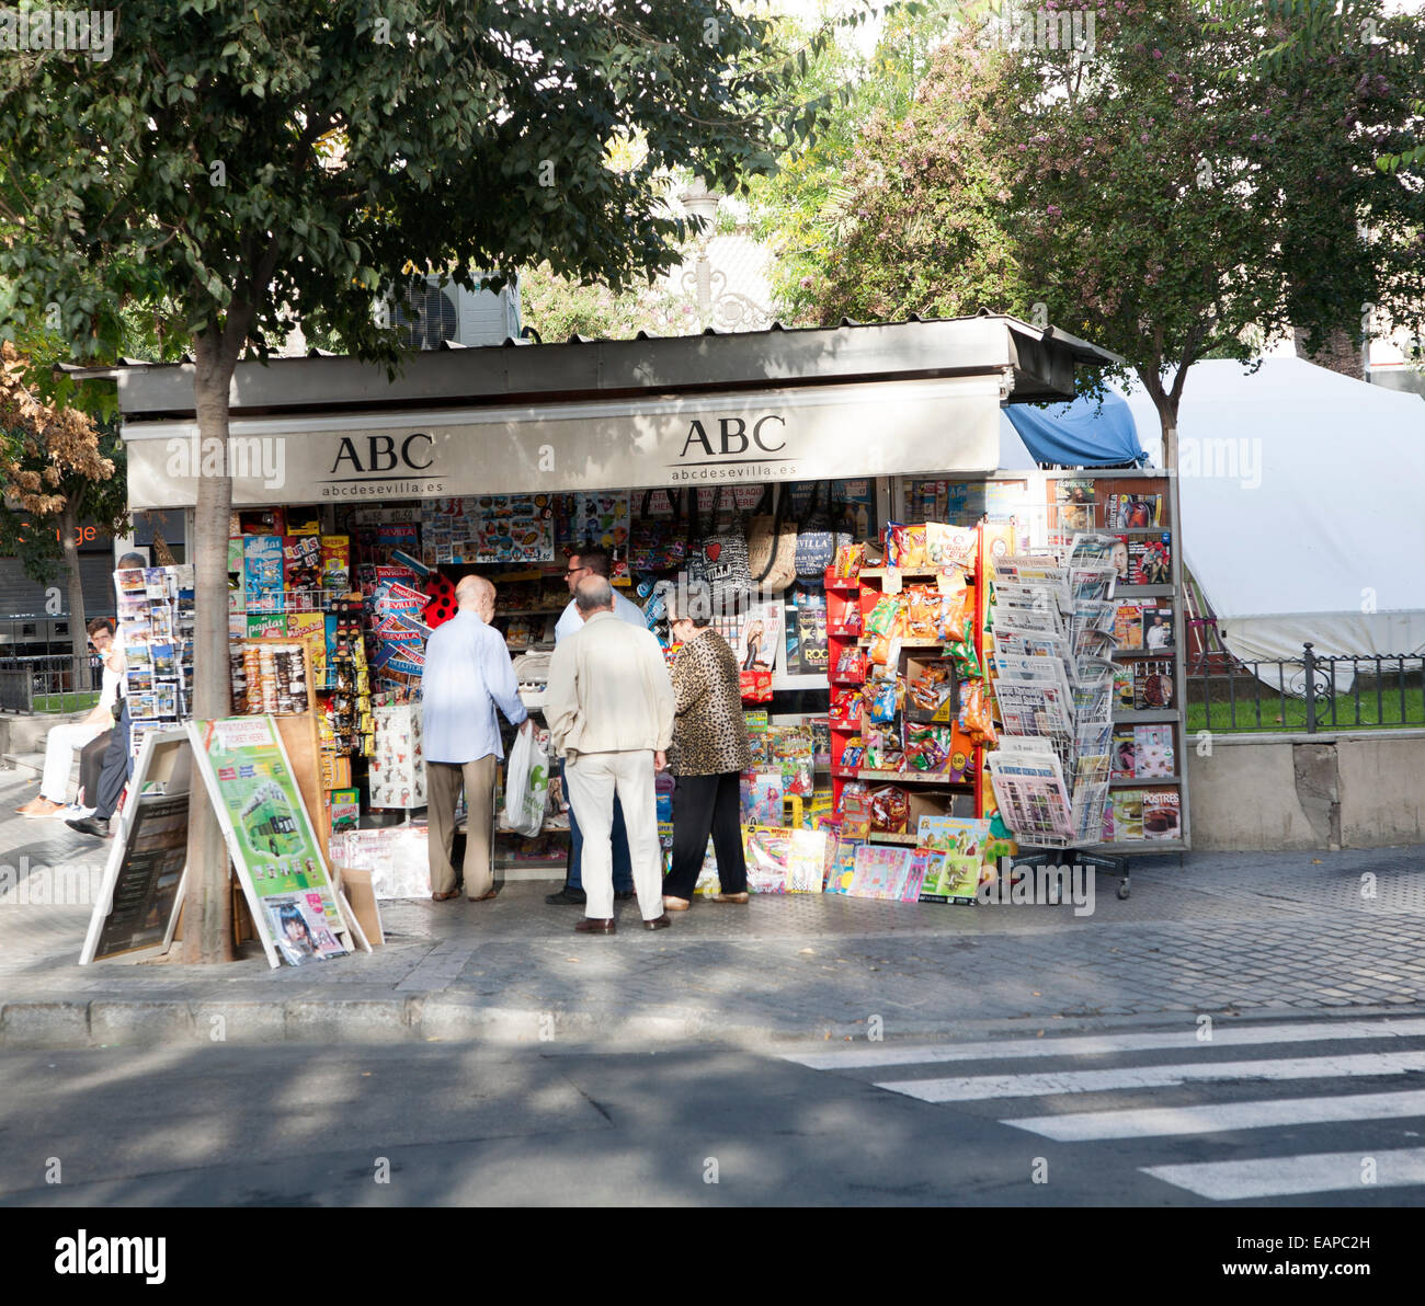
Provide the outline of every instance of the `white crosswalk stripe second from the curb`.
[[1280,1061],[1197,1061],[1184,1065],[1126,1065],[1027,1075],[968,1075],[950,1080],[878,1082],[923,1102],[972,1102],[989,1098],[1052,1097],[1060,1092],[1167,1088],[1220,1080],[1332,1080],[1345,1075],[1399,1075],[1425,1070],[1425,1052],[1361,1052],[1347,1057],[1297,1057]]

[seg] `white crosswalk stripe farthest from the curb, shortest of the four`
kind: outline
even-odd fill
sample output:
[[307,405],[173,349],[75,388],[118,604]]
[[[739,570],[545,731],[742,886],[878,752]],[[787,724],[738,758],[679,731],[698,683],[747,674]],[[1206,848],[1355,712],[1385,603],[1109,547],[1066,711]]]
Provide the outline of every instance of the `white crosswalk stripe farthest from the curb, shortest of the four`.
[[[1374,1179],[1365,1182],[1367,1158],[1375,1161]],[[1187,1165],[1143,1165],[1139,1169],[1177,1188],[1216,1202],[1277,1198],[1302,1192],[1359,1188],[1405,1188],[1425,1184],[1425,1148],[1388,1152],[1315,1152],[1261,1161],[1206,1161]]]

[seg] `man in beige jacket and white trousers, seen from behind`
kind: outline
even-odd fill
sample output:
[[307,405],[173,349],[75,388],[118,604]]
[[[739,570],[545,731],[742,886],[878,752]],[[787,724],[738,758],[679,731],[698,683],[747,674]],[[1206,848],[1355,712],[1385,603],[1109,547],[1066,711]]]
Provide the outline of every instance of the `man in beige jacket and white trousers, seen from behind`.
[[584,832],[581,934],[613,934],[614,793],[623,805],[646,930],[668,924],[663,910],[653,776],[667,765],[673,742],[673,684],[663,647],[646,630],[614,614],[613,587],[601,575],[574,588],[583,627],[554,648],[544,719],[554,752],[566,759],[569,800]]

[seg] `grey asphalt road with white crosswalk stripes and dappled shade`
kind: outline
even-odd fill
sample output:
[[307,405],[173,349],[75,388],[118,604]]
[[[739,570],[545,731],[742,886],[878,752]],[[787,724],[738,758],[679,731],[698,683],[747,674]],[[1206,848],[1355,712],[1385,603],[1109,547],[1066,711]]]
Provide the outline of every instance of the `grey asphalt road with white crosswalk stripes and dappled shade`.
[[1425,1020],[1203,1033],[7,1051],[0,1203],[1425,1205]]

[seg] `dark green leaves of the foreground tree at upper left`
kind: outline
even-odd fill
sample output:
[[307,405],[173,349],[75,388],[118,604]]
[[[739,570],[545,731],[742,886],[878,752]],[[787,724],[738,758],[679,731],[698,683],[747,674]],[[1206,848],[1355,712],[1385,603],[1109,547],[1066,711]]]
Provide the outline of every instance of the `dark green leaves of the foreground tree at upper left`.
[[[670,167],[697,157],[731,185],[772,165],[765,30],[727,0],[134,0],[103,75],[0,67],[0,115],[20,124],[0,201],[24,219],[0,272],[28,306],[123,266],[113,303],[151,296],[178,330],[251,305],[255,339],[298,303],[390,357],[370,301],[408,258],[550,258],[613,283],[665,265]],[[620,134],[647,160],[610,172]]]

